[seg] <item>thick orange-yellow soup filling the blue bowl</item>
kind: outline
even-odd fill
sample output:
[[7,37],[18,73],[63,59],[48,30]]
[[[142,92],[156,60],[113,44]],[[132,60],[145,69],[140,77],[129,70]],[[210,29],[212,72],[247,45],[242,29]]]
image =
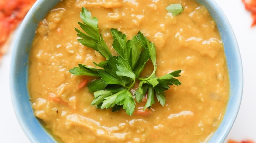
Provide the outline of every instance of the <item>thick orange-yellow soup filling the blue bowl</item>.
[[[173,3],[181,3],[184,11],[172,16],[165,8]],[[129,116],[90,105],[93,94],[86,86],[80,89],[88,77],[68,72],[78,63],[94,66],[92,61],[104,60],[77,41],[74,27],[79,28],[82,7],[98,18],[113,54],[111,28],[127,39],[141,31],[156,45],[157,76],[182,70],[182,85],[165,92],[164,107],[156,103],[150,115]],[[205,142],[226,111],[229,76],[223,43],[207,9],[194,0],[63,0],[39,23],[29,61],[34,114],[59,142]],[[135,110],[143,106],[136,103]]]

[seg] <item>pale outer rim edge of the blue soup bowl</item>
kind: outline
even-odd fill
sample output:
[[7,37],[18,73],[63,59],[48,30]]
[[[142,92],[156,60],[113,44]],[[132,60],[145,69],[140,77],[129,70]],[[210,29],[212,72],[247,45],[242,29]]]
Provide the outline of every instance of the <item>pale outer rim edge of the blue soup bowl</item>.
[[[55,0],[55,1],[60,1],[60,0]],[[218,6],[218,4],[214,1],[214,0],[197,0],[199,3],[205,2],[204,5],[207,7],[211,7],[214,8],[215,11],[218,11],[217,16],[220,17],[220,19],[222,20],[222,23],[225,24],[225,27],[227,29],[227,34],[230,36],[231,41],[233,41],[233,46],[234,46],[234,52],[235,52],[235,56],[236,57],[236,61],[237,62],[237,70],[238,70],[238,76],[237,80],[239,81],[239,89],[236,92],[236,96],[235,100],[237,100],[235,102],[235,104],[233,104],[232,109],[230,109],[230,111],[232,112],[230,114],[231,118],[227,117],[227,115],[225,114],[224,119],[221,123],[220,126],[224,126],[224,128],[220,129],[220,126],[218,127],[218,129],[215,131],[215,133],[211,136],[211,139],[209,140],[209,142],[224,142],[226,136],[228,135],[229,131],[231,130],[231,127],[234,124],[234,121],[236,119],[236,116],[238,114],[239,111],[239,107],[241,104],[241,100],[242,100],[242,92],[243,92],[243,70],[242,70],[242,60],[241,60],[241,56],[240,56],[240,52],[239,52],[239,47],[237,44],[237,40],[235,38],[235,34],[232,30],[232,27],[228,21],[228,19],[226,18],[224,12],[221,10],[221,8]],[[18,30],[18,34],[16,36],[16,40],[12,49],[12,56],[11,56],[11,66],[10,66],[10,90],[11,90],[11,99],[12,99],[12,104],[13,104],[13,108],[16,114],[16,117],[18,119],[18,122],[21,126],[21,128],[23,129],[23,131],[25,132],[25,134],[27,135],[28,139],[31,142],[38,142],[40,140],[38,140],[38,135],[36,135],[35,133],[30,131],[30,125],[25,121],[26,119],[24,119],[24,115],[20,114],[20,109],[17,104],[19,103],[18,101],[18,96],[14,90],[15,86],[17,86],[18,83],[15,82],[15,76],[13,75],[15,73],[15,71],[17,70],[15,68],[16,65],[16,61],[18,61],[18,59],[16,58],[17,55],[19,54],[19,43],[21,42],[21,38],[23,36],[23,32],[24,29],[27,25],[27,23],[31,20],[31,18],[33,17],[33,13],[38,10],[38,8],[40,7],[40,5],[44,2],[44,0],[37,0],[35,2],[35,4],[32,6],[32,8],[30,9],[30,11],[27,13],[26,17],[24,18],[22,24],[19,27]],[[207,8],[208,8],[207,7]],[[208,9],[209,10],[209,9]],[[211,12],[210,12],[211,13]],[[212,13],[211,13],[212,14]],[[215,19],[215,17],[212,15],[212,17]],[[218,25],[218,24],[217,24]],[[218,25],[219,28],[219,25]],[[220,30],[220,29],[219,29]],[[226,52],[225,52],[226,53]],[[14,89],[14,90],[13,90]],[[229,108],[230,108],[230,101],[228,103],[228,107],[227,107],[227,111],[228,112]],[[227,120],[227,125],[224,125],[224,120]],[[48,133],[46,133],[48,134]],[[51,137],[52,138],[52,137]],[[214,138],[214,139],[213,139]],[[41,140],[42,141],[42,140]],[[52,141],[54,141],[54,139],[52,138]]]

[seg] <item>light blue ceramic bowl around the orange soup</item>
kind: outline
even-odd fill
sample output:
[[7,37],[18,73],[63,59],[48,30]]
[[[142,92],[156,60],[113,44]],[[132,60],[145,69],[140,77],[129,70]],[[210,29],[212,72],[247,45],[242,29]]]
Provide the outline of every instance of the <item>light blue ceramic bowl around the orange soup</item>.
[[[60,0],[38,0],[20,25],[12,51],[10,88],[17,119],[31,142],[56,142],[35,118],[27,90],[28,55],[38,22]],[[224,119],[209,143],[221,143],[228,135],[237,116],[242,98],[243,71],[239,48],[233,30],[223,11],[214,0],[198,0],[205,5],[221,33],[230,76],[230,99]]]

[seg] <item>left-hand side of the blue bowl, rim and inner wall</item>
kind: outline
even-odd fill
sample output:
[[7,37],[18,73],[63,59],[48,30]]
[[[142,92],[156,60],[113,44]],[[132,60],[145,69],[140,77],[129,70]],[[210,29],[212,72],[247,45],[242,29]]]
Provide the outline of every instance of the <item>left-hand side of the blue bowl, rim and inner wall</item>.
[[[18,32],[17,32],[17,35],[15,37],[14,45],[13,45],[13,48],[12,48],[12,51],[11,51],[11,64],[10,64],[10,77],[9,77],[9,80],[10,80],[10,92],[11,92],[12,106],[13,106],[16,118],[17,118],[17,120],[18,120],[18,122],[19,122],[19,124],[20,124],[20,126],[21,126],[21,128],[23,130],[23,132],[25,133],[27,138],[30,140],[30,142],[33,142],[33,143],[57,142],[57,141],[42,126],[42,124],[40,123],[39,119],[37,119],[34,116],[34,113],[33,113],[32,110],[29,110],[28,112],[32,111],[32,114],[33,114],[32,120],[35,121],[35,122],[30,122],[31,120],[28,121],[28,120],[25,119],[26,116],[24,116],[24,112],[23,111],[28,110],[28,109],[21,106],[22,102],[20,101],[20,97],[22,97],[23,95],[21,95],[19,93],[19,91],[17,90],[17,87],[19,87],[18,86],[19,81],[17,81],[17,78],[19,78],[20,75],[18,75],[18,76],[16,75],[15,76],[15,74],[18,74],[17,72],[19,72],[18,68],[16,67],[17,66],[16,62],[20,61],[19,58],[23,58],[23,57],[19,57],[18,58],[18,55],[20,53],[19,50],[22,50],[19,45],[20,45],[20,43],[23,42],[21,40],[22,38],[24,38],[23,35],[27,34],[26,30],[31,28],[31,27],[28,28],[27,25],[31,24],[31,23],[35,23],[36,27],[37,27],[37,24],[60,1],[62,1],[62,0],[37,0],[33,4],[33,6],[30,8],[28,13],[26,14],[25,18],[23,19],[23,21],[21,22],[20,26],[18,27]],[[50,7],[42,7],[42,6],[45,6],[45,5],[51,5],[51,6]],[[48,12],[42,14],[43,16],[41,15],[41,17],[35,17],[34,14],[36,13],[36,11],[38,11],[38,10],[46,10],[46,9],[47,9]],[[33,35],[35,34],[35,30],[36,29],[33,30]],[[32,37],[34,37],[34,36],[32,36]],[[29,55],[29,52],[28,52],[28,49],[27,49],[28,48],[27,47],[28,44],[27,45],[22,45],[22,46],[24,47],[23,50],[25,52],[27,52],[27,55]],[[30,46],[29,46],[29,49],[30,49]],[[27,66],[27,64],[28,64],[27,62],[28,62],[28,58],[27,58],[26,62],[24,63],[24,66]],[[26,71],[25,71],[24,74],[28,75],[28,67],[26,67],[25,69],[26,69]],[[27,84],[28,83],[27,82],[27,78],[25,79],[25,81],[26,81],[26,84]],[[21,86],[23,86],[23,85],[21,85]],[[27,87],[27,85],[25,85],[25,86]],[[28,90],[27,88],[26,88],[26,92]],[[27,93],[27,95],[25,95],[25,96],[29,97],[29,94]],[[29,100],[29,98],[28,98],[28,100]],[[28,101],[28,102],[29,102],[28,106],[30,106],[30,109],[32,109],[32,103],[30,101]],[[31,117],[27,117],[27,118],[31,118]],[[34,127],[34,125],[36,125],[37,128]],[[37,135],[38,130],[40,130],[39,135]],[[44,135],[44,136],[40,136],[40,135]]]

